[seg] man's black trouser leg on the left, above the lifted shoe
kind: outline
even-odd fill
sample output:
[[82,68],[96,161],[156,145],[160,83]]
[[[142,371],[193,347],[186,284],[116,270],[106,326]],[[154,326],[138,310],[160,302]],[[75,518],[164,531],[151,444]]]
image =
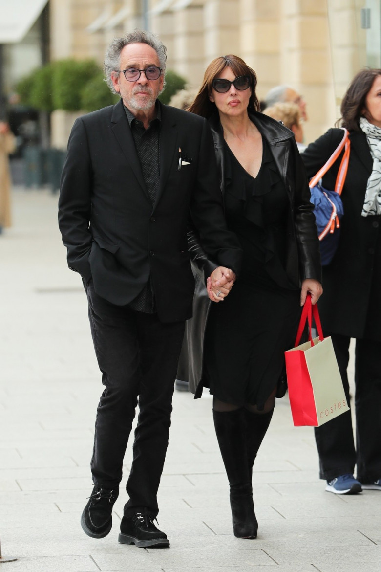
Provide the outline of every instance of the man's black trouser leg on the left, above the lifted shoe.
[[125,456],[139,392],[139,348],[135,312],[110,304],[86,288],[89,319],[102,383],[91,459],[93,481],[112,489],[122,479]]

